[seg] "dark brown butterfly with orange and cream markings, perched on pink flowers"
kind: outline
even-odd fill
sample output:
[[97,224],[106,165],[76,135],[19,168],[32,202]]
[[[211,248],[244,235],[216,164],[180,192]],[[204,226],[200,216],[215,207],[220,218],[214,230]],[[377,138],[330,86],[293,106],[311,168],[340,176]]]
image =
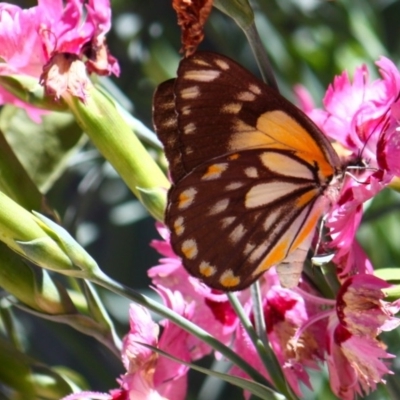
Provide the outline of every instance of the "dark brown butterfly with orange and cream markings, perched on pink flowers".
[[235,61],[198,52],[154,94],[173,185],[165,223],[187,271],[211,288],[248,287],[277,266],[297,285],[318,221],[340,190],[321,130]]

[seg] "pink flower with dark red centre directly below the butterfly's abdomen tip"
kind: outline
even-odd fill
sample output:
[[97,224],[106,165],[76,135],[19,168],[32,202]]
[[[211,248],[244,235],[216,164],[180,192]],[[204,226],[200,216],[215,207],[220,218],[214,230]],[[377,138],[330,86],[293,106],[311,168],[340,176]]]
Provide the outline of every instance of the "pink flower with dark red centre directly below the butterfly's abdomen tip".
[[[321,311],[320,302],[314,304],[296,291],[282,288],[274,270],[268,271],[264,277],[265,284],[262,287],[262,293],[268,341],[286,380],[296,395],[301,396],[300,382],[311,388],[305,368],[319,369],[318,361],[323,360],[326,323],[319,321],[312,326],[307,325],[301,332],[299,329]],[[300,283],[300,286],[306,291],[311,291],[305,283]],[[329,301],[326,303],[330,304]],[[241,325],[235,334],[234,349],[238,355],[271,380],[253,343]],[[231,373],[248,378],[237,367],[233,367]]]

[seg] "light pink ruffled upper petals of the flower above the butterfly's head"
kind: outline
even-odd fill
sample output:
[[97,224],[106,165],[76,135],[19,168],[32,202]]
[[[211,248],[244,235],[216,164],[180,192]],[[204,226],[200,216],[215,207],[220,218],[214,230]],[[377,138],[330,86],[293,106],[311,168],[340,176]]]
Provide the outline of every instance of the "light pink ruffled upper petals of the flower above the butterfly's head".
[[337,76],[324,98],[324,110],[310,117],[331,139],[377,166],[377,143],[390,119],[400,92],[400,73],[387,58],[376,63],[382,79],[368,82],[366,66],[358,68],[351,82],[347,72]]

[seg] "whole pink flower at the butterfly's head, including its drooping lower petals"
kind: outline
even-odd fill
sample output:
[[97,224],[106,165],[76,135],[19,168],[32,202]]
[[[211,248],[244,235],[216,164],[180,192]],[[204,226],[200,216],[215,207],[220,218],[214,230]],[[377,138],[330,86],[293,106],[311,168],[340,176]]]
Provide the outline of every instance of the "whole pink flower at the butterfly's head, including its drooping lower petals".
[[355,71],[352,81],[347,72],[336,77],[326,92],[324,109],[310,111],[310,101],[303,91],[297,91],[307,114],[341,145],[346,162],[351,164],[361,155],[369,166],[348,170],[353,176],[345,177],[339,201],[327,218],[331,247],[336,250],[333,261],[342,275],[354,271],[349,253],[361,221],[362,204],[400,172],[400,72],[387,58],[382,57],[376,64],[381,79],[373,82],[368,80],[366,66]]

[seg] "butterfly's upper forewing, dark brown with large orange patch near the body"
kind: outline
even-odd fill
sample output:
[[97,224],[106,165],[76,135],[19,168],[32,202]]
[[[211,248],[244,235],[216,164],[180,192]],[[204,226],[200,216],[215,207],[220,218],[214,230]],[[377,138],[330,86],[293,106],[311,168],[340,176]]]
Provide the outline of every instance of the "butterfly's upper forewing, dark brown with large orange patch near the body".
[[[339,166],[326,138],[302,112],[228,58],[197,53],[182,60],[174,93],[187,171],[222,154],[266,147]],[[332,175],[328,169],[324,173]]]

